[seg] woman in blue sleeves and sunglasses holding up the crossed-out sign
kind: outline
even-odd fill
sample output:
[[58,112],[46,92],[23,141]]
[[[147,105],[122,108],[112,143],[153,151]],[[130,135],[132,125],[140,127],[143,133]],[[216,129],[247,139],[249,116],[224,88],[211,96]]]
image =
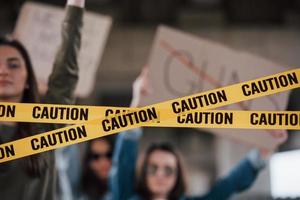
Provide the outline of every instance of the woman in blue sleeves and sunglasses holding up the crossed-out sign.
[[[151,93],[144,69],[133,85],[132,107],[139,107],[141,95]],[[211,190],[196,197],[186,196],[186,182],[179,153],[170,144],[152,144],[139,158],[138,143],[141,129],[133,129],[118,135],[113,157],[110,184],[114,200],[224,200],[249,188],[265,166],[258,150],[250,151]],[[285,134],[279,134],[284,142]],[[136,163],[138,163],[135,172]],[[136,177],[135,177],[136,176]]]

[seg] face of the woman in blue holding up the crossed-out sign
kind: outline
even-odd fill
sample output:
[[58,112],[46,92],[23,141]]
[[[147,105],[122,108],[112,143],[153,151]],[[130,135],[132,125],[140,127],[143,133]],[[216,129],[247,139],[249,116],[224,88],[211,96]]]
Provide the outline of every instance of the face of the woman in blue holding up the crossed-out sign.
[[166,198],[177,180],[176,157],[167,151],[153,151],[147,163],[146,180],[155,198]]

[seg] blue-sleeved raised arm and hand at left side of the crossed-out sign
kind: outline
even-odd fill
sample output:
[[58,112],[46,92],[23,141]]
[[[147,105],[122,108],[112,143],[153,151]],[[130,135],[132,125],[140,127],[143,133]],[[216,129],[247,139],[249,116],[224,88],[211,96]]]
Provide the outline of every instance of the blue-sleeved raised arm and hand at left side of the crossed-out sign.
[[[140,98],[149,93],[147,72],[144,69],[133,84],[131,107],[140,107]],[[110,190],[113,200],[127,200],[135,194],[135,167],[142,129],[131,129],[117,137],[110,172]]]

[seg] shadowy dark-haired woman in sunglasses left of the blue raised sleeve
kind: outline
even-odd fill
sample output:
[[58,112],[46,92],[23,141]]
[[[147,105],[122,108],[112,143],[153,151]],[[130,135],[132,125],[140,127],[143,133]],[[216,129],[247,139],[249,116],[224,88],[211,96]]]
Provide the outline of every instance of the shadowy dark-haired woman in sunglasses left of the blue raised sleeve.
[[83,162],[80,200],[108,200],[108,177],[111,169],[114,141],[112,136],[88,143]]

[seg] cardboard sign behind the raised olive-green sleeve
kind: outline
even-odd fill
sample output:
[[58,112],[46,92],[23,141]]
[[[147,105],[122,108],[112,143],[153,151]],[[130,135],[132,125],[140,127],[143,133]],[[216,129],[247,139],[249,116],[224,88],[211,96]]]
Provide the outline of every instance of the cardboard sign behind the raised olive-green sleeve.
[[[54,57],[61,42],[63,8],[27,2],[22,7],[14,36],[28,49],[41,85],[46,85]],[[93,89],[112,20],[108,16],[85,12],[82,44],[78,58],[80,66],[76,94],[86,97]]]

